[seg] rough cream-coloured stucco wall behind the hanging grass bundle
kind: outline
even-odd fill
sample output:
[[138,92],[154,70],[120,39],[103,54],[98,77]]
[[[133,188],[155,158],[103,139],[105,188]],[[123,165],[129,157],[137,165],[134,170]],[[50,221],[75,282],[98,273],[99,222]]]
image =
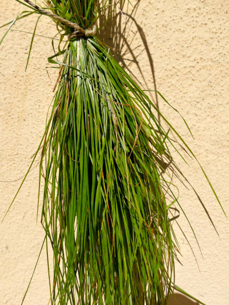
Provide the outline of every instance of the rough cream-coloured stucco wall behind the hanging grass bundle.
[[[10,2],[10,3],[9,3]],[[137,1],[132,1],[137,4]],[[12,20],[24,8],[16,1],[1,1],[0,25]],[[160,110],[187,140],[205,168],[229,216],[229,0],[141,0],[129,27],[119,39],[108,37],[118,58],[124,58],[144,88],[157,89],[185,117],[162,99]],[[129,12],[131,9],[129,8]],[[32,32],[35,16],[16,23],[14,29]],[[0,36],[6,28],[0,28]],[[42,17],[37,34],[53,37],[53,22]],[[115,35],[115,33],[114,33]],[[48,106],[53,96],[57,69],[48,69],[53,54],[51,39],[35,36],[28,69],[25,64],[31,34],[9,31],[0,46],[0,180],[22,177],[36,151]],[[154,98],[152,93],[152,98]],[[189,186],[179,185],[180,203],[192,223],[192,230],[180,210],[177,219],[196,255],[179,230],[181,264],[176,263],[176,283],[208,305],[229,304],[229,221],[224,216],[198,163],[189,165],[175,156],[198,196]],[[37,160],[38,162],[38,160]],[[37,164],[36,162],[36,164]],[[32,274],[44,232],[36,224],[38,166],[32,167],[6,218],[0,223],[0,305],[20,304]],[[21,182],[0,182],[2,219]],[[214,229],[208,210],[218,231]],[[178,207],[179,209],[179,207]],[[198,264],[197,264],[198,263]],[[199,267],[198,267],[199,266]],[[41,253],[24,304],[48,304],[49,288],[45,249]],[[189,303],[178,297],[181,305]],[[176,304],[176,303],[175,303]]]

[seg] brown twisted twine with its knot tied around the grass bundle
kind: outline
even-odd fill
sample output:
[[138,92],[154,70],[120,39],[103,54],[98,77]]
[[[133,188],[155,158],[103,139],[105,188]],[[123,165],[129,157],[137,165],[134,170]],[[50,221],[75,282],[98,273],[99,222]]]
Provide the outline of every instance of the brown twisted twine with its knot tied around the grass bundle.
[[24,0],[24,2],[28,3],[30,6],[32,6],[34,9],[38,10],[42,14],[47,15],[51,18],[54,18],[54,19],[62,22],[63,24],[74,28],[75,31],[68,35],[69,40],[72,39],[72,38],[78,37],[78,36],[86,36],[86,37],[92,36],[92,35],[95,35],[95,33],[96,33],[96,25],[95,24],[93,25],[92,29],[91,28],[84,29],[81,26],[79,26],[79,24],[77,24],[77,23],[66,20],[66,19],[64,19],[64,18],[62,18],[58,15],[55,15],[55,14],[49,12],[49,11],[46,11],[46,10],[40,8],[38,5],[32,3],[30,0]]

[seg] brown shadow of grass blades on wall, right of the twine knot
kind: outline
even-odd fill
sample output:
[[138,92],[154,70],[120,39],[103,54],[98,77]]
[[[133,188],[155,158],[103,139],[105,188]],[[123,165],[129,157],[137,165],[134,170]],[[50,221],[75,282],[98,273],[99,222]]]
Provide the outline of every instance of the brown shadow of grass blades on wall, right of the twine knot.
[[[153,58],[144,31],[135,19],[140,0],[135,0],[133,2],[132,5],[128,0],[120,0],[116,5],[107,5],[106,9],[101,12],[99,17],[99,36],[113,50],[116,60],[128,73],[130,73],[132,78],[140,84],[142,88],[147,90],[150,89],[147,94],[159,110]],[[139,39],[139,43],[133,48],[136,37]],[[152,73],[153,85],[151,88],[148,87],[148,82],[141,69],[141,63],[138,61],[138,57],[142,52],[146,52],[147,54]],[[139,76],[133,74],[132,69],[130,68],[132,64],[137,67],[142,78],[142,83],[139,81]],[[153,89],[154,92],[152,92],[151,89]],[[160,123],[159,115],[158,121]]]

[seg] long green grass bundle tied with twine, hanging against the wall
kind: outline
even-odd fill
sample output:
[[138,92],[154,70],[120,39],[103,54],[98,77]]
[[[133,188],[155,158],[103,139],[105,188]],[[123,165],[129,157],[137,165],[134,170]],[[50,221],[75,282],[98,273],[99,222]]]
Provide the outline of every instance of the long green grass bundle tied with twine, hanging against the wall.
[[68,37],[64,50],[49,58],[60,72],[33,158],[41,148],[41,223],[53,250],[50,302],[166,304],[174,289],[177,251],[168,215],[177,198],[162,165],[177,168],[169,131],[194,154],[96,37],[99,15],[114,3],[46,0],[40,7],[24,2],[30,10],[9,29],[36,13],[51,17],[61,39]]

